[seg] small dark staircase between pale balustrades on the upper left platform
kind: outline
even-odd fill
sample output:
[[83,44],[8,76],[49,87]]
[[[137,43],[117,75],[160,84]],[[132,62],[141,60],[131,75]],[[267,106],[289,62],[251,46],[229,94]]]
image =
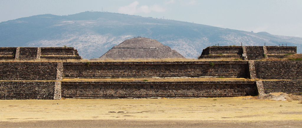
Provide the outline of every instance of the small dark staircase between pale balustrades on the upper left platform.
[[20,47],[19,59],[37,59],[37,47]]

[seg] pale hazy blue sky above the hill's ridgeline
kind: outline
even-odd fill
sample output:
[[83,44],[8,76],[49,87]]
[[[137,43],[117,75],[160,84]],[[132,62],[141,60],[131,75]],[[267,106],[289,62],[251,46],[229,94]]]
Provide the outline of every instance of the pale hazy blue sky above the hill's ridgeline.
[[302,0],[0,0],[0,22],[108,11],[302,37]]

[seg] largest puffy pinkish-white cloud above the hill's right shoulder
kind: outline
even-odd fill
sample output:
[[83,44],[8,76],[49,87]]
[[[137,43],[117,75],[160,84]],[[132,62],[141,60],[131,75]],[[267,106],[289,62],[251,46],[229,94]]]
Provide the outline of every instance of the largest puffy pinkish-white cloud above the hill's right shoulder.
[[150,13],[152,11],[165,12],[165,9],[160,7],[159,5],[152,5],[150,7],[147,5],[142,5],[140,7],[137,7],[137,5],[139,5],[139,2],[135,1],[130,5],[119,7],[117,12],[123,14],[130,14],[130,15],[141,13],[141,12]]

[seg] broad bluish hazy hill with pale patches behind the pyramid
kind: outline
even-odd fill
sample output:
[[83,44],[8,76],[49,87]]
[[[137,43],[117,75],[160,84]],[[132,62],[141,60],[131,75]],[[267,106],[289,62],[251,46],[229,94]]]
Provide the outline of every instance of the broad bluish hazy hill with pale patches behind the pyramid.
[[132,37],[156,39],[188,58],[215,44],[262,46],[287,44],[301,53],[302,38],[246,32],[175,20],[146,18],[108,12],[52,14],[0,23],[1,47],[75,47],[80,56],[98,58]]

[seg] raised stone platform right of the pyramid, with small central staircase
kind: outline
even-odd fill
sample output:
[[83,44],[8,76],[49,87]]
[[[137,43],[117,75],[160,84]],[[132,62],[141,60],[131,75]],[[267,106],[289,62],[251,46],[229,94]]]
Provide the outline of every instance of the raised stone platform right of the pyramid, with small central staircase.
[[[297,47],[291,46],[210,46],[205,48],[198,58],[241,58],[259,60],[267,57],[284,57],[288,53],[297,53]],[[220,55],[219,55],[220,54]],[[223,54],[223,55],[221,55]],[[246,55],[244,55],[246,54]],[[244,57],[246,56],[246,58]]]

